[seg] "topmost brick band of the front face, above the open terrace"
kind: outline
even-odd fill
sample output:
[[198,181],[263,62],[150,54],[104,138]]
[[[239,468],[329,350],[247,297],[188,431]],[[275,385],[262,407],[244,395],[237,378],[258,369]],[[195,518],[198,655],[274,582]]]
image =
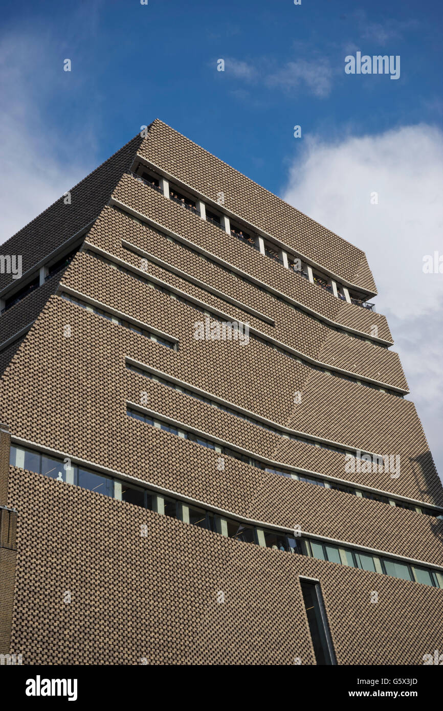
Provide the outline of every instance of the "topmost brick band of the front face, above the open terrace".
[[375,292],[364,252],[158,119],[151,124],[138,152],[215,202],[222,191],[227,210],[349,282]]

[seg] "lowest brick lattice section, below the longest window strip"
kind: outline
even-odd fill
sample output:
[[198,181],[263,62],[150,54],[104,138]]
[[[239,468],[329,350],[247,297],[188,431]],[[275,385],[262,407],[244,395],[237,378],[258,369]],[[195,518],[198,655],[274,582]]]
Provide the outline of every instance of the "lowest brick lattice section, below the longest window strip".
[[14,477],[10,501],[11,649],[23,663],[313,664],[299,575],[320,580],[340,664],[422,664],[441,643],[438,589],[235,542],[37,474]]

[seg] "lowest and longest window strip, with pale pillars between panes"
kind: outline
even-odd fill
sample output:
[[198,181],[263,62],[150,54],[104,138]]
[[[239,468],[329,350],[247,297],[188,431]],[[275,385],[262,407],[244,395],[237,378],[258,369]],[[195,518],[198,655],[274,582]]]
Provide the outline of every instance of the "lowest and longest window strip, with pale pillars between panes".
[[[252,543],[281,552],[295,553],[347,565],[360,570],[390,575],[410,582],[429,585],[443,589],[443,570],[415,565],[405,560],[390,558],[388,556],[373,555],[362,552],[349,545],[336,545],[330,542],[301,535],[301,531],[273,530],[253,525],[241,518],[227,518],[224,514],[215,513],[205,508],[204,504],[193,504],[175,498],[174,496],[159,494],[158,491],[142,486],[141,483],[129,483],[114,476],[107,476],[92,468],[73,464],[69,457],[60,459],[49,456],[44,452],[26,447],[11,445],[10,466],[18,469],[33,471],[36,474],[48,476],[61,483],[70,483],[80,486],[88,491],[100,493],[103,496],[117,498],[119,501],[146,508],[156,513],[176,518],[232,538],[233,540]],[[148,529],[142,535],[148,535]]]

